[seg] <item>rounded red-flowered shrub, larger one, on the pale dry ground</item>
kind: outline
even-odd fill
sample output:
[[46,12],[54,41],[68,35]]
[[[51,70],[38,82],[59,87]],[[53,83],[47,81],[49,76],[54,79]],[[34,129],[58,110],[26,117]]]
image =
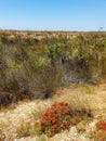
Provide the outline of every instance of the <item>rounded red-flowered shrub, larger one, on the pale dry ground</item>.
[[40,117],[41,131],[47,136],[53,136],[64,129],[68,129],[70,125],[80,121],[79,117],[71,118],[71,107],[64,102],[52,104]]

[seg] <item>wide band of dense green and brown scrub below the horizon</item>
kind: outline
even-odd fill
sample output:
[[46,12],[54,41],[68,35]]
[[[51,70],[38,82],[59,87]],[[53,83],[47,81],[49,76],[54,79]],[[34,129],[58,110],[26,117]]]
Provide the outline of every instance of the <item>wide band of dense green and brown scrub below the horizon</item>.
[[0,104],[50,98],[69,82],[100,84],[106,75],[105,56],[104,33],[37,39],[1,31]]

